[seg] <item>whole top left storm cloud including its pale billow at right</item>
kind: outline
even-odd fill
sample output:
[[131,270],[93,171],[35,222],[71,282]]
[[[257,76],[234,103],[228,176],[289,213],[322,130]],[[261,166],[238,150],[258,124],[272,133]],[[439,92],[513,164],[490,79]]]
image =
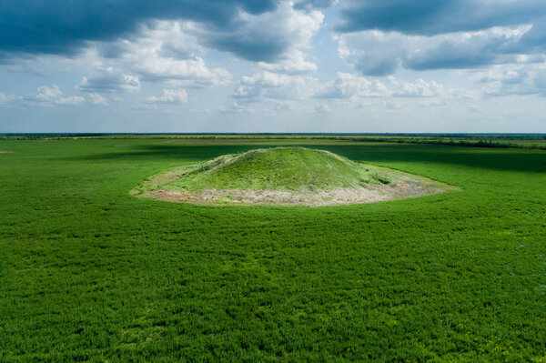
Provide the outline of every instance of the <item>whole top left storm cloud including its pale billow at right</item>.
[[[190,27],[201,45],[270,63],[307,44],[323,18],[319,11],[300,11],[287,0],[7,1],[0,3],[0,61],[75,56],[97,44],[106,44],[103,54],[116,58],[123,52],[116,45],[120,39],[134,39],[143,27],[157,23],[178,23]],[[189,61],[192,52],[176,32],[172,35],[175,39],[164,42],[157,56]]]

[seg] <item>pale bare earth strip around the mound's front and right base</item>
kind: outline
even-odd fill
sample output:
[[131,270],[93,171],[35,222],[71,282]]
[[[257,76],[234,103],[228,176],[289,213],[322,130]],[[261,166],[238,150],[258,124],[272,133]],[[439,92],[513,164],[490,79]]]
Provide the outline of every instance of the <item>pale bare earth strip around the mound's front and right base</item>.
[[[358,188],[333,188],[329,190],[288,191],[257,189],[203,189],[197,191],[151,190],[143,193],[132,190],[136,197],[148,197],[167,202],[190,203],[206,206],[308,206],[325,207],[376,203],[388,200],[423,197],[457,190],[426,177],[394,171],[379,166],[369,166],[383,174],[396,176],[389,185]],[[165,177],[165,176],[164,176]],[[172,176],[171,176],[172,177]],[[167,176],[167,178],[169,178]]]

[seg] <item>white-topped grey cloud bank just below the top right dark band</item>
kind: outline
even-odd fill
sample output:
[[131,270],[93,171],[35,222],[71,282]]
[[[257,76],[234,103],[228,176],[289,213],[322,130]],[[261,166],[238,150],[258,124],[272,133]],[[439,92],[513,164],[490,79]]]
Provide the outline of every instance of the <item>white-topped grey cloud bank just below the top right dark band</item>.
[[468,69],[521,60],[519,43],[531,25],[470,33],[418,36],[363,31],[339,36],[339,55],[367,76],[412,70]]

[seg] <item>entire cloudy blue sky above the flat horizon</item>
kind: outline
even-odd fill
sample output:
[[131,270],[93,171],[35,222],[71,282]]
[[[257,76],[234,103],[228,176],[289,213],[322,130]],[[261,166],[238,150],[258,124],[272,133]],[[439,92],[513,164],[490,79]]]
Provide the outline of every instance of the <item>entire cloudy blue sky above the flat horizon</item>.
[[546,133],[544,0],[2,0],[0,133]]

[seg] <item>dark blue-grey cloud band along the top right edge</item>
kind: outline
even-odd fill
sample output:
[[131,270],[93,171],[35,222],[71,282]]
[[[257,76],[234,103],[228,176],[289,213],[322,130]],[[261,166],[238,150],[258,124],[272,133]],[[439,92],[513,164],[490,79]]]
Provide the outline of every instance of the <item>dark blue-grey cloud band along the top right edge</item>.
[[531,23],[540,15],[546,15],[543,0],[352,0],[337,29],[439,35]]

